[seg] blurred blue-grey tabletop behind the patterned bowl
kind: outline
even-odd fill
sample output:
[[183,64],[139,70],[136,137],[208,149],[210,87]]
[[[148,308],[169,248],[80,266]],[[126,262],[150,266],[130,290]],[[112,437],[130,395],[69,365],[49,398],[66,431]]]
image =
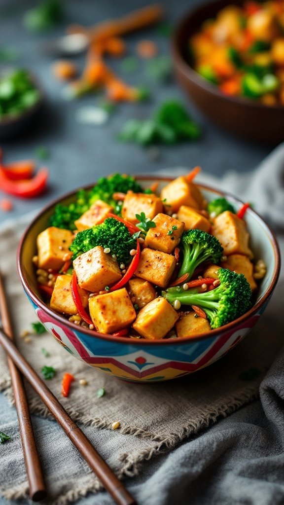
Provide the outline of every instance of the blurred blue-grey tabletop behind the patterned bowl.
[[[179,88],[171,70],[171,36],[185,12],[199,2],[163,0],[160,4],[165,11],[161,21],[124,36],[126,49],[120,58],[105,58],[106,64],[120,79],[139,90],[143,88],[148,99],[118,103],[113,108],[109,100],[104,99],[103,91],[70,97],[70,85],[55,76],[54,64],[62,57],[54,52],[54,45],[71,24],[88,27],[110,18],[120,18],[149,5],[149,0],[68,0],[60,3],[62,12],[56,14],[51,26],[39,31],[34,26],[37,20],[27,12],[41,6],[41,2],[1,1],[2,72],[7,68],[30,71],[44,99],[41,114],[31,129],[24,127],[13,138],[0,138],[3,159],[7,164],[34,159],[37,167],[48,167],[49,181],[48,189],[35,198],[9,196],[12,201],[9,215],[7,209],[1,209],[0,222],[41,208],[52,198],[92,183],[102,175],[114,172],[151,174],[160,169],[196,165],[205,172],[218,175],[229,170],[245,172],[253,170],[269,153],[271,146],[236,138],[209,122]],[[141,47],[138,49],[141,41],[154,42],[155,57],[141,56]],[[75,64],[81,75],[86,52],[72,58],[64,57],[66,59]],[[200,138],[152,146],[118,138],[128,120],[146,120],[165,100],[172,99],[179,100],[199,124]],[[1,192],[0,199],[4,196]]]

